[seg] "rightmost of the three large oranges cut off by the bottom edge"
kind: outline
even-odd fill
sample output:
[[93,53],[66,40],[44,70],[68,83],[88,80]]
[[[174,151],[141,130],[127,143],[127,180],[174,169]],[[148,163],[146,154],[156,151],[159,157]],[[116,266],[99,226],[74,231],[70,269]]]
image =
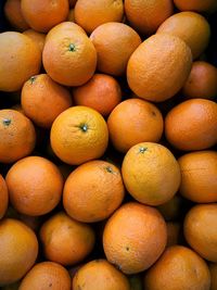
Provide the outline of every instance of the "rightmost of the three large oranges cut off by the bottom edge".
[[210,274],[205,261],[187,247],[167,248],[144,274],[145,290],[209,290]]

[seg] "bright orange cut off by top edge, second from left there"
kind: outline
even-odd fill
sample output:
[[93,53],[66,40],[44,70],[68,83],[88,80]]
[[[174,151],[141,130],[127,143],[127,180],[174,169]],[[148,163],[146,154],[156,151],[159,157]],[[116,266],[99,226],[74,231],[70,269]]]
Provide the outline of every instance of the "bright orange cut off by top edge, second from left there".
[[39,31],[48,33],[67,17],[68,0],[22,0],[21,9],[28,25]]

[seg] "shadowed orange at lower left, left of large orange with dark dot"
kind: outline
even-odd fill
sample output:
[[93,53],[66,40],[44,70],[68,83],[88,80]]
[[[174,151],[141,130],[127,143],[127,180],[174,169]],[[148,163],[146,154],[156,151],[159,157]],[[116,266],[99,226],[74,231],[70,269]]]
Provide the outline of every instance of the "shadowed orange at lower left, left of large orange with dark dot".
[[93,249],[94,231],[64,212],[47,219],[40,229],[46,259],[62,265],[75,265]]

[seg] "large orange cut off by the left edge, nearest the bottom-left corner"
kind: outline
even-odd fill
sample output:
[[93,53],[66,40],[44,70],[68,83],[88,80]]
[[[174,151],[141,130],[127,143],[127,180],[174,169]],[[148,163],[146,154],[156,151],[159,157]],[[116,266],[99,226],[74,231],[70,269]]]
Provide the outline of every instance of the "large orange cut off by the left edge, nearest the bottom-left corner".
[[38,240],[29,227],[12,218],[0,222],[0,286],[23,278],[37,255]]

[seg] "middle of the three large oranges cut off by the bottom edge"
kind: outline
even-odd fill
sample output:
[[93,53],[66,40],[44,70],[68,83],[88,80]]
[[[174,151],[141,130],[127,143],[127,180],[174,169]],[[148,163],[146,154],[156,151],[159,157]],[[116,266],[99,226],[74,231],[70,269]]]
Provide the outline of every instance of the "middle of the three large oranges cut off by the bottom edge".
[[106,260],[93,260],[77,270],[72,289],[130,290],[130,286],[127,277]]

